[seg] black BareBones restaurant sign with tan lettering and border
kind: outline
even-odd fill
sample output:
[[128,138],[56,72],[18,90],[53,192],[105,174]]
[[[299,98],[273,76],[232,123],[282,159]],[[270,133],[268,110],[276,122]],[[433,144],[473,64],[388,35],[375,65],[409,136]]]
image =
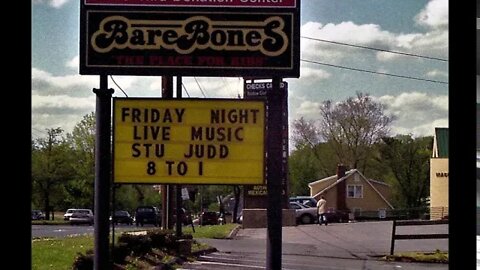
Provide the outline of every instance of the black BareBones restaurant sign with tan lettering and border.
[[[113,2],[82,4],[81,74],[299,76],[298,7],[219,10],[193,8],[205,1],[188,7]],[[253,3],[239,3],[244,2]]]

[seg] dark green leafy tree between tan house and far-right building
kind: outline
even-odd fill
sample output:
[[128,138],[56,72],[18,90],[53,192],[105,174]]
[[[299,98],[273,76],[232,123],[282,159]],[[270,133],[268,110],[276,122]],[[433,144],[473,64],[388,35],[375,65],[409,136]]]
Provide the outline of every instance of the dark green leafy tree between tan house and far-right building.
[[397,135],[382,139],[381,160],[388,164],[396,178],[400,205],[406,208],[424,206],[429,196],[433,137],[412,138]]

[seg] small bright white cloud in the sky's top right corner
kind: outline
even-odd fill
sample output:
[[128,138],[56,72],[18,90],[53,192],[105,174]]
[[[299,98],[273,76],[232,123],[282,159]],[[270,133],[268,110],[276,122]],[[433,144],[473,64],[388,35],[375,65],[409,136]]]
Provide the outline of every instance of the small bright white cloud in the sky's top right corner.
[[430,28],[448,27],[448,0],[432,0],[415,16],[415,22]]

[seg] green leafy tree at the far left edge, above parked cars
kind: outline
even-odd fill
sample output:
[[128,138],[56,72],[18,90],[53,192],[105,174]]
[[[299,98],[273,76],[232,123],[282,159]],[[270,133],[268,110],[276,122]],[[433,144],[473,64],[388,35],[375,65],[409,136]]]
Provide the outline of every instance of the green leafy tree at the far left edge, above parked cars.
[[61,200],[63,187],[72,174],[70,149],[61,128],[47,129],[47,137],[32,143],[32,198],[43,205],[46,219],[54,200]]

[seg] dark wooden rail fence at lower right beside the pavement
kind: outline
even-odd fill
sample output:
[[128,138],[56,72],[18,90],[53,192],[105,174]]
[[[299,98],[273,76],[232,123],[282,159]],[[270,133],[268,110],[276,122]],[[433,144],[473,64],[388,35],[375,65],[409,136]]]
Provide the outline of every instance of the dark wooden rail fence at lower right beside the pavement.
[[415,225],[440,225],[448,224],[448,220],[401,220],[393,221],[392,241],[390,245],[390,255],[393,255],[395,249],[395,240],[409,239],[443,239],[448,238],[448,233],[427,233],[427,234],[396,234],[397,226],[415,226]]

